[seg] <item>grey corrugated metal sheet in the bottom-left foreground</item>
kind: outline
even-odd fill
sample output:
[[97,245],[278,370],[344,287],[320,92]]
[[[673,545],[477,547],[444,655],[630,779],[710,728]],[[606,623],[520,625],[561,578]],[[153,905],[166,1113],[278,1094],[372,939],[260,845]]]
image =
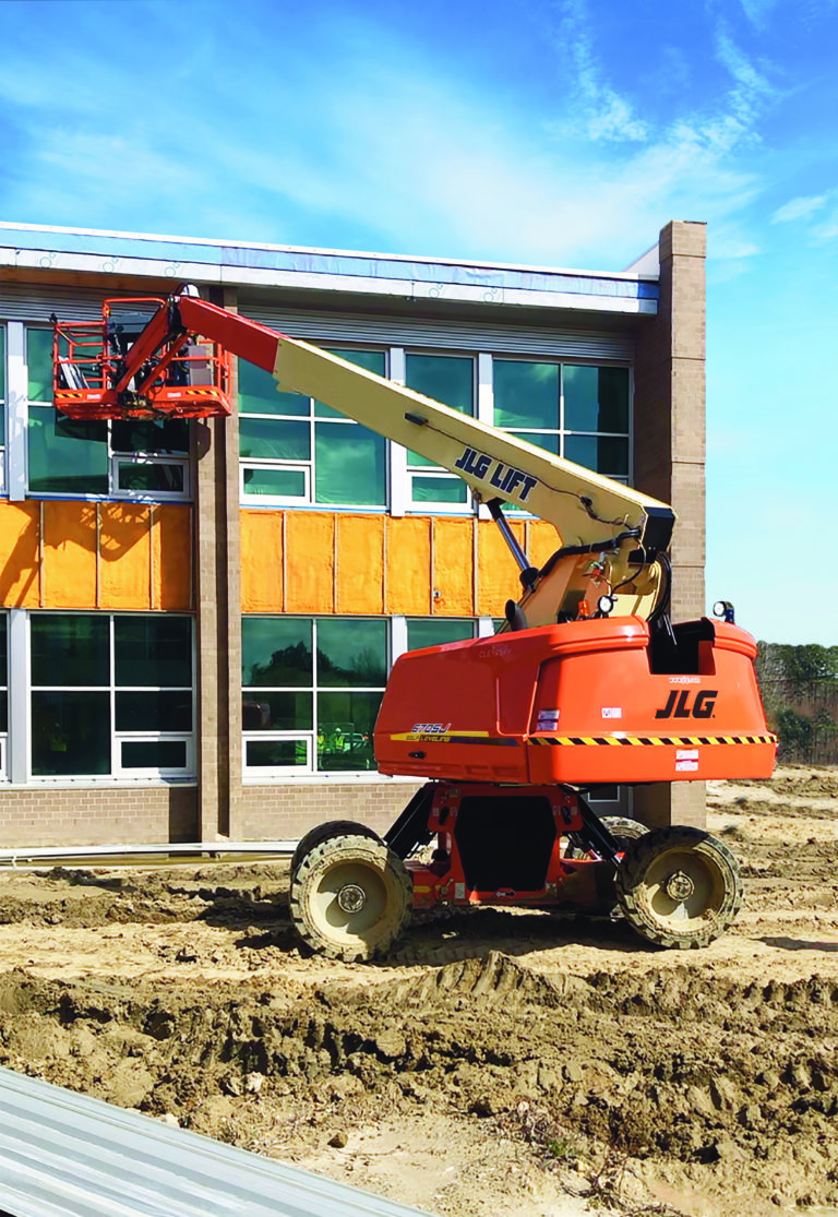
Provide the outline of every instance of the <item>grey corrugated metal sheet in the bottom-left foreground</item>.
[[420,1212],[6,1069],[0,1069],[0,1206],[9,1217]]

